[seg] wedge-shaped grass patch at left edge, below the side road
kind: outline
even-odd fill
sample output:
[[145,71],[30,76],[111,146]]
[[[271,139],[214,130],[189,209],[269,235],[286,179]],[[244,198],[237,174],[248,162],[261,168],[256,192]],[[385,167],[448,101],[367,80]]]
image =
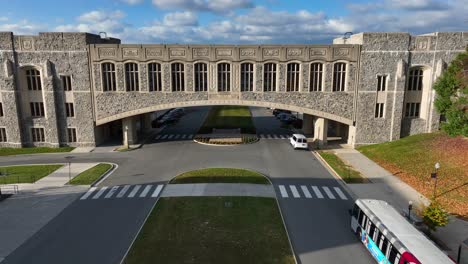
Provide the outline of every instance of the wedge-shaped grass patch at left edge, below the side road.
[[[53,164],[0,167],[0,184],[34,183],[62,166]],[[6,176],[3,176],[5,174]]]

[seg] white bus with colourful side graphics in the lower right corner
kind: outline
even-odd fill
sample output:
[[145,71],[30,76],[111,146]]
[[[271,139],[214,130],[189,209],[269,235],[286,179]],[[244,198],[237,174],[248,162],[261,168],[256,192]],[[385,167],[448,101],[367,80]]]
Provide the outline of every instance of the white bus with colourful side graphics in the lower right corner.
[[379,264],[454,263],[385,201],[356,200],[351,229]]

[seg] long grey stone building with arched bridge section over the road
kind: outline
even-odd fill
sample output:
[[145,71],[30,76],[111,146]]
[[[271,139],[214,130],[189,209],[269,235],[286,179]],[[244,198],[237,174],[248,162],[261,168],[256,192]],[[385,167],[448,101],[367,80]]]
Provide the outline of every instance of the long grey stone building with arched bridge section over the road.
[[351,145],[431,132],[432,85],[468,32],[360,33],[330,45],[132,45],[88,33],[0,33],[0,146],[95,146],[172,107],[304,113]]

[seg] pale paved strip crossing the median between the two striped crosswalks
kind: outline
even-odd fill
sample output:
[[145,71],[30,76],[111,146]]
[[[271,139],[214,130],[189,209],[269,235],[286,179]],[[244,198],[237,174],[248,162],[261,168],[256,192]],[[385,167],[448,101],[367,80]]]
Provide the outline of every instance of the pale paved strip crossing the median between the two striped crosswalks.
[[182,196],[276,197],[273,185],[249,183],[168,184],[161,194],[161,197]]

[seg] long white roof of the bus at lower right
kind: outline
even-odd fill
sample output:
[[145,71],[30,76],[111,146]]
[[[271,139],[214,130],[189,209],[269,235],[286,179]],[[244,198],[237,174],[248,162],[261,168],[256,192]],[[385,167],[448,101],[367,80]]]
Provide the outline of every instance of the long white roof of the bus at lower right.
[[[358,199],[356,204],[366,214],[373,215],[380,221],[384,228],[388,229],[401,244],[413,254],[421,263],[446,264],[453,261],[443,253],[432,241],[426,238],[413,225],[398,213],[395,208],[385,201]],[[373,219],[374,224],[381,228],[379,223]]]

